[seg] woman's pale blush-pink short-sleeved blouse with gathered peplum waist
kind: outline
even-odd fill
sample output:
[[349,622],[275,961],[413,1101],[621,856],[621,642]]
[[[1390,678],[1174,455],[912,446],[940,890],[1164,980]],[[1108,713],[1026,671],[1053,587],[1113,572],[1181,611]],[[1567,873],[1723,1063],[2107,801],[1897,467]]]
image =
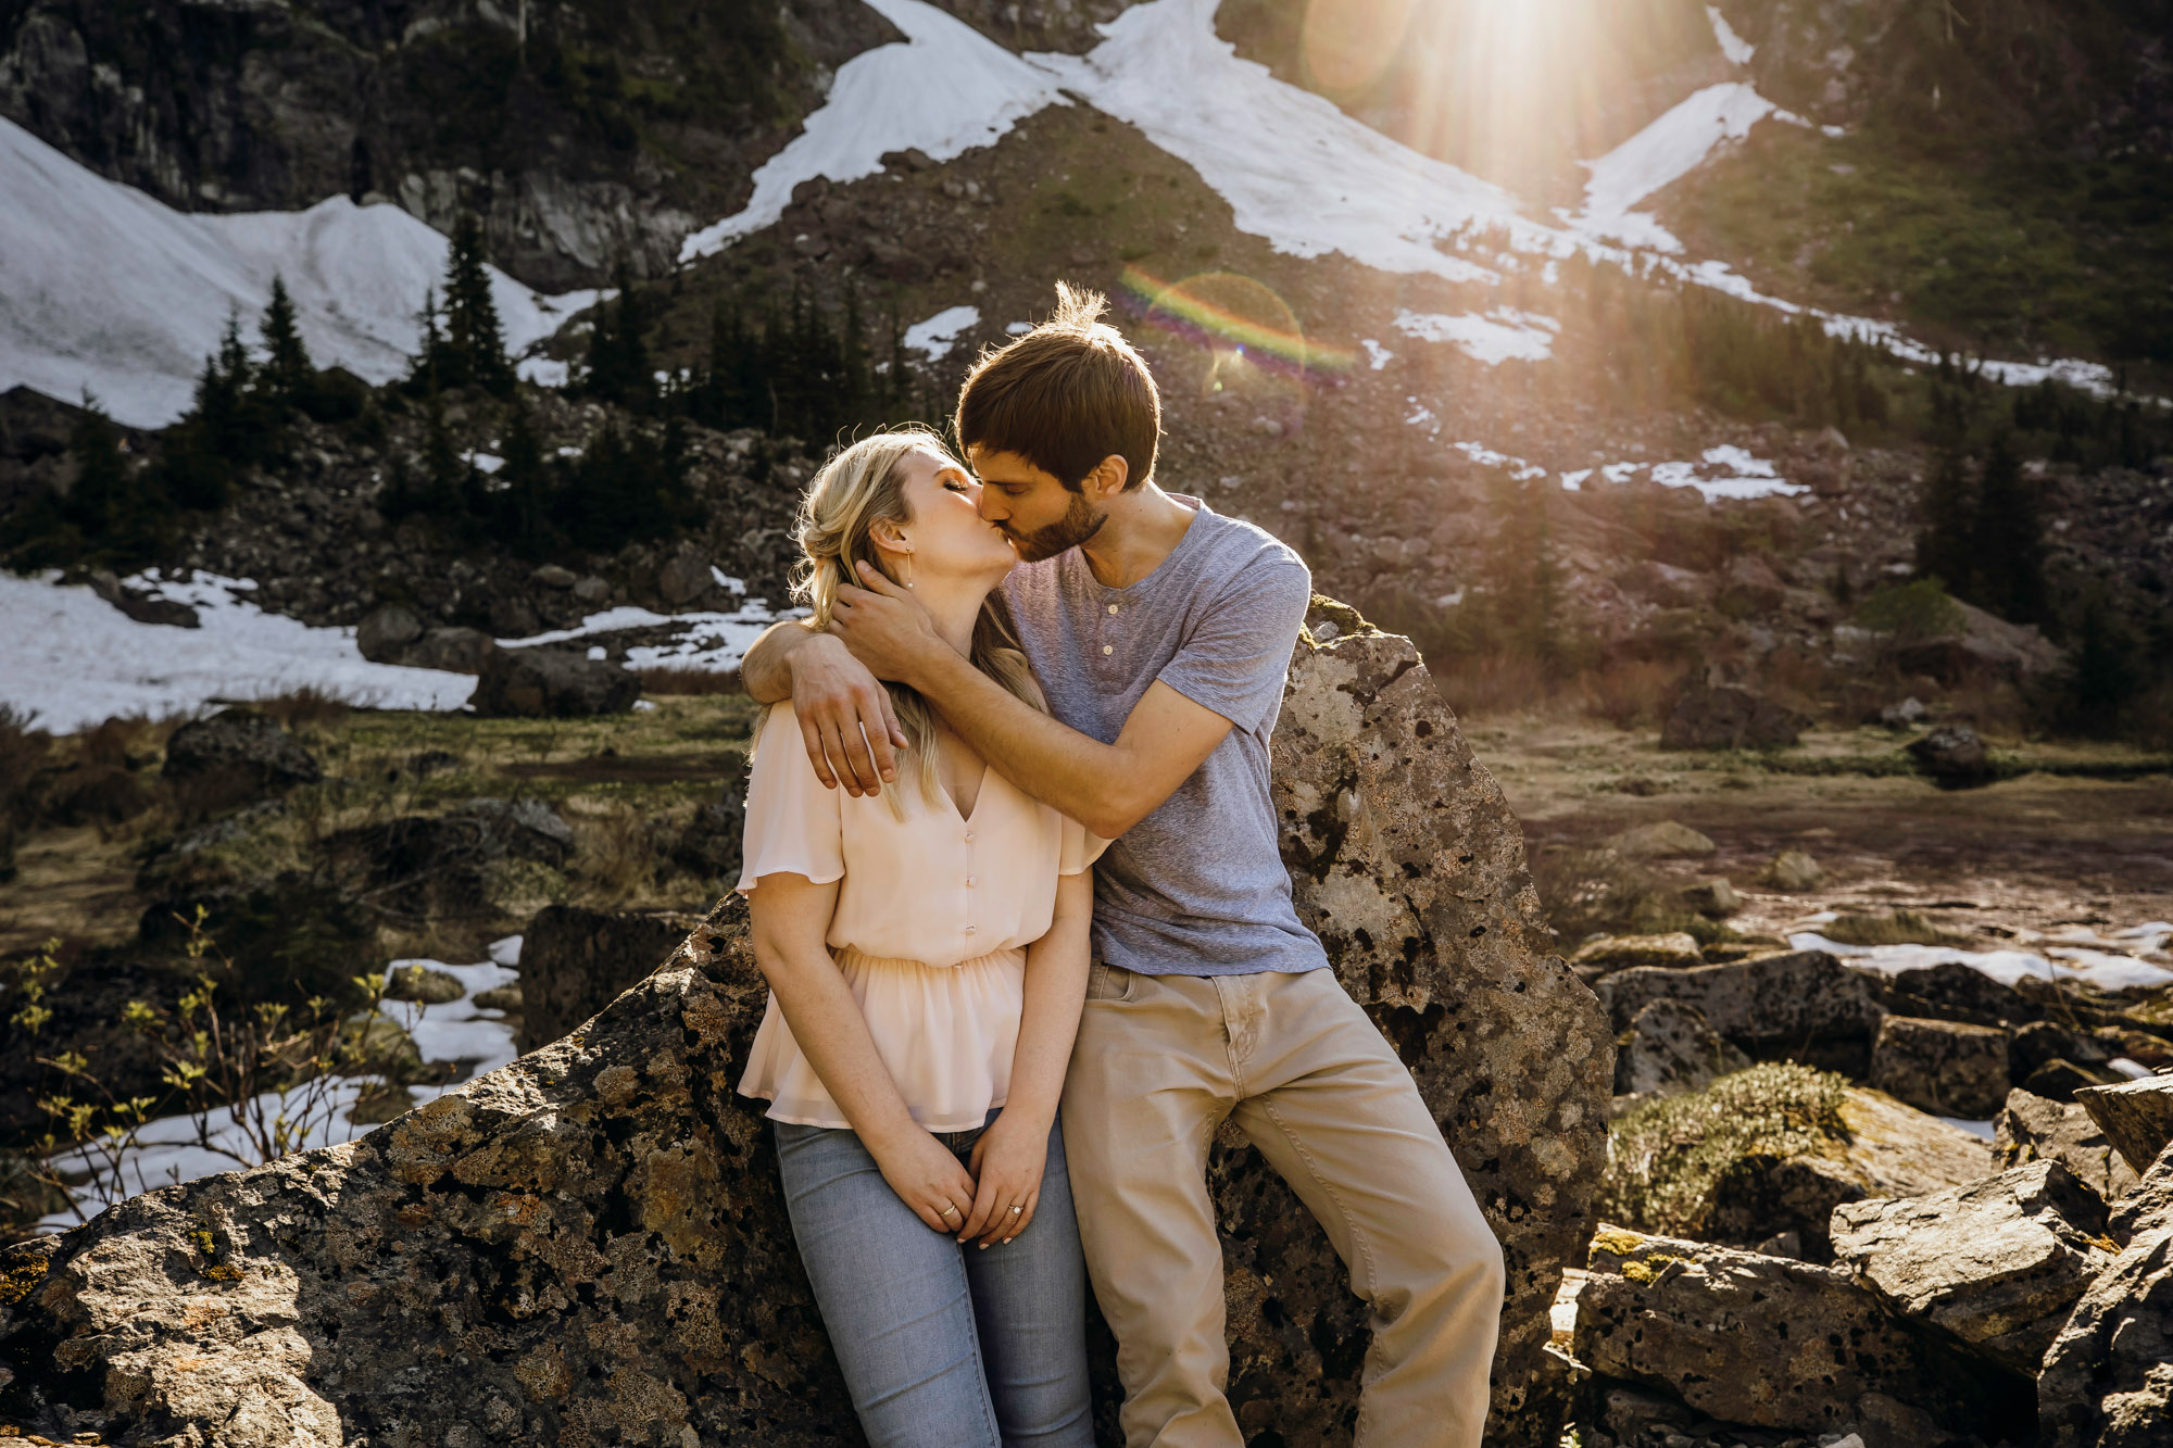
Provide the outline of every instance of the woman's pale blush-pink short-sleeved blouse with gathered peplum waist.
[[[971,1131],[1002,1107],[1019,1041],[1026,946],[1050,931],[1056,878],[1108,846],[995,770],[974,813],[913,778],[895,785],[904,820],[880,796],[852,798],[815,778],[791,704],[756,731],[739,894],[765,874],[839,883],[828,946],[861,1002],[891,1081],[928,1131]],[[850,1126],[793,1041],[776,994],[748,1054],[741,1094],[769,1118]]]

